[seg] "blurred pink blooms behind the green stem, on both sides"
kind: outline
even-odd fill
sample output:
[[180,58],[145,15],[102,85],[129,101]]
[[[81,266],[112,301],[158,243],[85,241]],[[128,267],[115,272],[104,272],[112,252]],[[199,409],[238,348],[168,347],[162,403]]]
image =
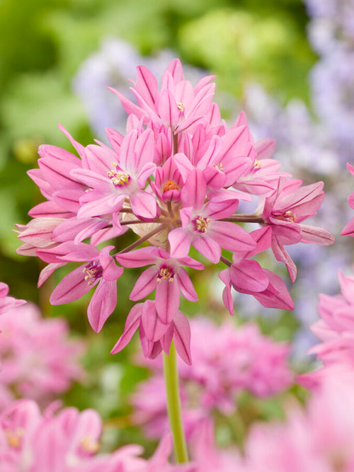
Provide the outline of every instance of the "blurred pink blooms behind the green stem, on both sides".
[[[192,318],[190,328],[193,364],[178,365],[188,437],[200,427],[200,421],[212,417],[213,411],[232,415],[241,391],[268,397],[292,384],[287,364],[290,346],[261,335],[256,324],[236,328],[234,323],[217,326],[207,318]],[[132,396],[133,417],[144,424],[147,436],[161,437],[169,431],[162,362],[155,359],[143,361],[143,365],[152,367],[154,375],[141,382]]]

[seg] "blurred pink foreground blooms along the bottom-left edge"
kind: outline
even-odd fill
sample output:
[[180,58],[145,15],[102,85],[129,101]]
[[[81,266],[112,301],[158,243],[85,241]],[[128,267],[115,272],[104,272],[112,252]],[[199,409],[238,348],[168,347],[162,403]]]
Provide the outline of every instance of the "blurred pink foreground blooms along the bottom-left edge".
[[42,415],[32,400],[14,402],[0,415],[0,464],[4,472],[195,472],[195,466],[169,464],[171,439],[165,437],[151,459],[130,444],[98,454],[102,420],[95,410],[53,404]]

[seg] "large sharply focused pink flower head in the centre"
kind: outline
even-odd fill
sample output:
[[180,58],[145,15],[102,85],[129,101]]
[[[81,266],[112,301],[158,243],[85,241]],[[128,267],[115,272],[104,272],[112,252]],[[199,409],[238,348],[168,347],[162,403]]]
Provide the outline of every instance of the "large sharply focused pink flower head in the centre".
[[[78,299],[96,287],[88,316],[92,328],[101,330],[117,304],[124,267],[149,266],[130,299],[139,301],[155,291],[154,300],[133,306],[113,353],[139,328],[146,357],[169,352],[173,340],[190,364],[190,330],[179,306],[181,295],[198,300],[185,267],[203,269],[190,257],[191,246],[211,263],[227,266],[220,278],[224,304],[234,313],[232,287],[264,306],[293,308],[284,282],[254,255],[271,248],[293,281],[296,267],[285,246],[333,243],[329,231],[303,224],[324,199],[323,183],[302,186],[280,172],[280,163],[271,159],[273,140],[254,142],[244,113],[227,126],[212,102],[212,79],[207,76],[193,87],[174,59],[159,87],[149,69],[137,67],[131,88],[137,104],[112,89],[129,115],[125,136],[107,129],[110,146],[84,147],[61,127],[79,157],[40,146],[40,168],[29,172],[47,201],[30,210],[32,221],[17,225],[23,241],[18,252],[48,263],[40,284],[58,267],[81,263],[59,282],[52,304]],[[239,201],[253,196],[259,199],[256,213],[237,214]],[[239,225],[243,222],[260,228],[249,233]],[[128,229],[139,236],[130,246],[122,247],[118,239],[116,246],[97,248]],[[145,242],[150,246],[133,251]],[[232,260],[223,250],[232,251]]]

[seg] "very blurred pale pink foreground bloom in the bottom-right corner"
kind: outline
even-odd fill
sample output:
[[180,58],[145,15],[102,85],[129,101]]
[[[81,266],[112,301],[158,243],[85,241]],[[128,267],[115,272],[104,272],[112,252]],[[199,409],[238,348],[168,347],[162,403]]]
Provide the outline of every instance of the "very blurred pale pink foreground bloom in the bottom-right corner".
[[306,410],[287,421],[254,425],[245,444],[244,472],[354,471],[354,378],[326,376]]

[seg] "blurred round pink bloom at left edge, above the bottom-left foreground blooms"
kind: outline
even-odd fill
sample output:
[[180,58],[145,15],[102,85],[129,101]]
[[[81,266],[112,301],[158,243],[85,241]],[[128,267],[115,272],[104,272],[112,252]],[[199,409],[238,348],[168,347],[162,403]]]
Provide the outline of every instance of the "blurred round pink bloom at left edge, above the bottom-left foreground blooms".
[[42,318],[25,304],[0,316],[0,330],[0,410],[17,397],[46,404],[83,379],[84,346],[68,339],[64,319]]

